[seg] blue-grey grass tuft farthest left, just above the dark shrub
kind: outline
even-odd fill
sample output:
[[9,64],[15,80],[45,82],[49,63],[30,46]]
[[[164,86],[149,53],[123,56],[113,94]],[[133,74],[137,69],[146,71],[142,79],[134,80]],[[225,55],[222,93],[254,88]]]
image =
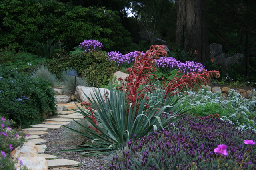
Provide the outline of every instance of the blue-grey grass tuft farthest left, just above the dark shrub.
[[52,74],[45,65],[37,66],[32,75],[49,81],[51,86],[58,84],[56,75]]

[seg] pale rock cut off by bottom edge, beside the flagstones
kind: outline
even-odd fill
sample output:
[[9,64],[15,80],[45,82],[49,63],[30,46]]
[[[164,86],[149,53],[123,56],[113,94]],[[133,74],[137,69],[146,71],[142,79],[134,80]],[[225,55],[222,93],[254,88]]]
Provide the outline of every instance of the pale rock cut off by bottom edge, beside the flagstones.
[[[19,157],[23,165],[31,170],[48,170],[48,165],[44,157]],[[15,165],[17,170],[20,170],[20,164]]]

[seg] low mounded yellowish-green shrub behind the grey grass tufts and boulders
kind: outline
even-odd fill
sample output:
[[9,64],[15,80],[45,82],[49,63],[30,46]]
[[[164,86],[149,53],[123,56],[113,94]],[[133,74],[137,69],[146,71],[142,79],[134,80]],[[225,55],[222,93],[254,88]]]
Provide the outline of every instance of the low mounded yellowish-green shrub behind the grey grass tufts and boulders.
[[103,79],[106,79],[118,70],[113,61],[109,61],[108,55],[104,51],[90,51],[89,53],[78,53],[75,55],[65,55],[47,63],[52,73],[59,75],[65,68],[72,67],[79,75],[86,78],[90,85],[100,87]]

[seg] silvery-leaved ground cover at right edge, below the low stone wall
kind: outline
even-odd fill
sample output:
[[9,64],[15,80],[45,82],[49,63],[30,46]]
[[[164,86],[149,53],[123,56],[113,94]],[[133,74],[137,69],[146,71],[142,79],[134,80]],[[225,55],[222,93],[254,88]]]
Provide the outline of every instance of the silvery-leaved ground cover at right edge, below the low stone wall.
[[230,90],[227,100],[223,100],[221,93],[212,93],[205,89],[197,92],[188,91],[184,97],[183,106],[195,106],[193,113],[198,116],[219,114],[220,119],[230,122],[243,129],[256,130],[256,100],[255,90],[252,89],[250,99],[241,97],[233,89]]

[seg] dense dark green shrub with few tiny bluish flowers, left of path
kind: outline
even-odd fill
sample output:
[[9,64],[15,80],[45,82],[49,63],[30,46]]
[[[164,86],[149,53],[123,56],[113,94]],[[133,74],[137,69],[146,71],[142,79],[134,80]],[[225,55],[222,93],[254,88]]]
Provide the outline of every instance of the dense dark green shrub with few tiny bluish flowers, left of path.
[[29,127],[56,114],[50,83],[0,66],[0,114],[15,127]]

